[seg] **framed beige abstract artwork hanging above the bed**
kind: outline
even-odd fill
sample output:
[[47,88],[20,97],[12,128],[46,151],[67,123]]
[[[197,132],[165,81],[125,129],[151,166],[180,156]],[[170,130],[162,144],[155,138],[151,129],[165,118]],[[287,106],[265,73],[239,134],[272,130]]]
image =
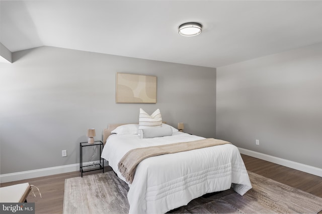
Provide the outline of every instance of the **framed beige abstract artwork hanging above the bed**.
[[116,73],[116,103],[156,103],[156,77]]

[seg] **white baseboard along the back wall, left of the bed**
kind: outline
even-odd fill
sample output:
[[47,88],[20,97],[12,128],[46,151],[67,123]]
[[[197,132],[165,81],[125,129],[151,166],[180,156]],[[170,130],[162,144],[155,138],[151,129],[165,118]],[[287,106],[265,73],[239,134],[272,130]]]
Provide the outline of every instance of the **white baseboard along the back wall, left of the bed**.
[[[91,161],[94,162],[94,161]],[[83,162],[83,164],[91,164],[91,162]],[[108,166],[108,162],[105,160],[104,166]],[[79,163],[70,164],[70,165],[63,165],[63,166],[55,166],[49,167],[44,169],[35,169],[29,171],[22,171],[22,172],[14,172],[8,174],[1,174],[0,175],[0,183],[6,183],[16,180],[24,180],[34,177],[42,177],[48,176],[53,174],[60,174],[72,171],[79,171]]]

